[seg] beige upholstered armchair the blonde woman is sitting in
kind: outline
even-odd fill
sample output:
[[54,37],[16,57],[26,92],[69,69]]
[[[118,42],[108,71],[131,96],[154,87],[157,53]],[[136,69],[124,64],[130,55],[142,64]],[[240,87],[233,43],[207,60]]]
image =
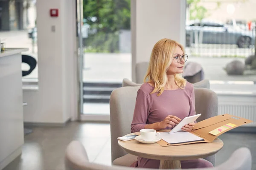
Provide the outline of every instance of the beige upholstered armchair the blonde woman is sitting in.
[[[116,139],[131,133],[131,121],[139,88],[140,86],[117,88],[110,96],[111,155],[115,165],[129,166],[137,160],[137,156],[125,153],[118,146]],[[202,114],[198,122],[217,116],[217,94],[206,88],[195,88],[195,111]],[[215,164],[215,155],[205,159]]]

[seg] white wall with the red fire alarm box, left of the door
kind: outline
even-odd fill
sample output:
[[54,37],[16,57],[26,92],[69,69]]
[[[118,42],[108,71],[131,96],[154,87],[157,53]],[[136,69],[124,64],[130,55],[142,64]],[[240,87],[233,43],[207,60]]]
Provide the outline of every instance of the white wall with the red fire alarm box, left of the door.
[[[36,6],[39,90],[23,91],[24,122],[64,123],[78,115],[75,1],[37,0]],[[51,8],[59,17],[49,16]]]

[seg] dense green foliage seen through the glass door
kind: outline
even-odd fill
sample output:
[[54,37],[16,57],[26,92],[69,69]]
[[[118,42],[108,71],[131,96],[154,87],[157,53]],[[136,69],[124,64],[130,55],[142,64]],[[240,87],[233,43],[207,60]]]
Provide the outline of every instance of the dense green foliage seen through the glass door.
[[[130,29],[131,0],[83,0],[85,46],[94,52],[118,52],[120,29]],[[89,48],[90,47],[90,48]]]

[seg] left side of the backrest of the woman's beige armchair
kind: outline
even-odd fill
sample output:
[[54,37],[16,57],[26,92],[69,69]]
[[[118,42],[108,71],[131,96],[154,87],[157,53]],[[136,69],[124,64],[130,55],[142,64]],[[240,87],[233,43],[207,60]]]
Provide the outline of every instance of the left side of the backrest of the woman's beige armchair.
[[112,162],[126,153],[117,144],[117,138],[131,133],[137,91],[140,86],[116,88],[110,96],[110,130]]

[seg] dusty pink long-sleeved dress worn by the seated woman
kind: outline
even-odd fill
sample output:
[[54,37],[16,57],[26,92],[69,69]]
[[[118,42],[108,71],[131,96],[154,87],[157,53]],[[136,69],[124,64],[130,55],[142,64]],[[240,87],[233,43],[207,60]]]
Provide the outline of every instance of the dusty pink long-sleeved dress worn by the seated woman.
[[[185,89],[165,90],[163,94],[150,94],[153,87],[143,83],[137,93],[134,116],[131,122],[131,133],[144,129],[146,124],[161,122],[168,115],[184,119],[187,116],[195,115],[195,93],[194,87],[187,82]],[[170,129],[170,128],[166,128]],[[181,168],[213,167],[204,159],[180,161]],[[160,160],[138,157],[138,161],[131,164],[131,167],[159,168]]]

